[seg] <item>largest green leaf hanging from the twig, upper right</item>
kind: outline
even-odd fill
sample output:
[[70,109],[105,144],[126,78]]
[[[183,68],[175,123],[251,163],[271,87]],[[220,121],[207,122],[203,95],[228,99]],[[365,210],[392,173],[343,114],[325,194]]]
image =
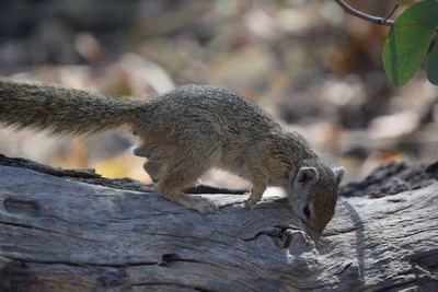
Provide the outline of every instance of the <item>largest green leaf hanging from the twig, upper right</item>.
[[383,46],[383,66],[395,85],[404,85],[418,70],[438,27],[438,2],[420,1],[396,20]]

